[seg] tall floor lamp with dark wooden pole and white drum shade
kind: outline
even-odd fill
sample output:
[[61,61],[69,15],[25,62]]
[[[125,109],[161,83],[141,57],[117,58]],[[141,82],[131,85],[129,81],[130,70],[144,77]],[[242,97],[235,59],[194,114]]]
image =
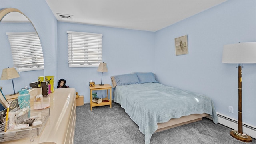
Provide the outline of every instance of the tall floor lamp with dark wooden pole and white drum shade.
[[238,131],[232,130],[230,135],[237,140],[241,140],[243,142],[251,142],[252,138],[243,133],[241,65],[256,63],[256,42],[224,45],[222,63],[238,64]]

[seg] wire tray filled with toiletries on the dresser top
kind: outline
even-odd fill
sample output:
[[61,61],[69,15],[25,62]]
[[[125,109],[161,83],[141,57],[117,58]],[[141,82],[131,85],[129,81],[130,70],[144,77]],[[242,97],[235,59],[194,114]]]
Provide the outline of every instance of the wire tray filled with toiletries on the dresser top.
[[35,136],[41,134],[50,115],[50,108],[29,110],[29,107],[18,107],[10,111],[8,109],[0,112],[0,117],[3,116],[0,118],[3,121],[0,124],[0,142],[21,138],[30,138],[30,142],[33,142]]

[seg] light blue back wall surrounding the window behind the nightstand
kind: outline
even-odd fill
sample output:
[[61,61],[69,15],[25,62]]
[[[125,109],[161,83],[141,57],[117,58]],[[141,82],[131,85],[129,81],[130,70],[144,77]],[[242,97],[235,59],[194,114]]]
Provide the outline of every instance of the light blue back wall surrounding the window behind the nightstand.
[[154,70],[154,32],[58,22],[58,79],[64,78],[67,86],[84,95],[84,102],[90,102],[89,81],[100,84],[101,72],[98,67],[68,68],[67,31],[103,34],[103,62],[108,72],[103,73],[102,83],[111,84],[110,76],[117,74]]

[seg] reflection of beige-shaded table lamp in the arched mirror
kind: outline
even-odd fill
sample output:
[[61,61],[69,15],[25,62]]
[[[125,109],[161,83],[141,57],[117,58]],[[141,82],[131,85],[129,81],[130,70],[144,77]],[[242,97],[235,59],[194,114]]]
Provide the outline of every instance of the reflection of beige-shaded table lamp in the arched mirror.
[[[20,75],[18,74],[17,70],[15,68],[9,68],[8,67],[8,68],[3,69],[1,80],[10,80],[10,79],[13,79],[13,78],[18,78],[18,77],[20,77]],[[12,80],[12,87],[13,87],[13,94],[11,94],[11,95],[14,95],[16,93],[15,93],[15,90],[14,90],[13,80]]]

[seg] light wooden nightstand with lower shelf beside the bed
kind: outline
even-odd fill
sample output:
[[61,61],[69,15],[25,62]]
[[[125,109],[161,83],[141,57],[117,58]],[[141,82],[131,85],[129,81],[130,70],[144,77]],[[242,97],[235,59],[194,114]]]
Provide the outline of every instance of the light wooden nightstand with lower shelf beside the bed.
[[[110,84],[104,84],[103,86],[99,86],[96,84],[95,86],[89,87],[90,88],[90,105],[91,105],[91,110],[92,107],[94,106],[106,106],[110,105],[110,108],[112,108],[112,86]],[[107,90],[107,97],[103,98],[103,100],[108,100],[108,102],[101,102],[100,104],[96,104],[92,102],[92,91],[94,90]],[[108,99],[108,90],[110,90],[110,99]]]

